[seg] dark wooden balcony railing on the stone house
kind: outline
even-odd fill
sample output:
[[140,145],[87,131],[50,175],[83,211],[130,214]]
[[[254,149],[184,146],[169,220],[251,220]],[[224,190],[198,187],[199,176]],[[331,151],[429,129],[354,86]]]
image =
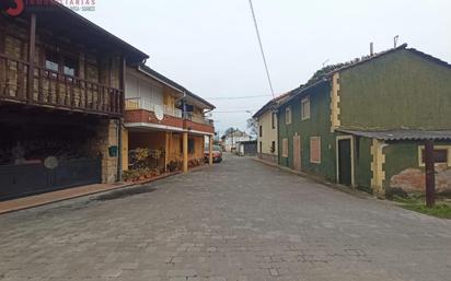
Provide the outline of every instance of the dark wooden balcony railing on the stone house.
[[124,92],[118,89],[38,66],[28,86],[28,62],[0,54],[0,99],[106,115],[124,112]]

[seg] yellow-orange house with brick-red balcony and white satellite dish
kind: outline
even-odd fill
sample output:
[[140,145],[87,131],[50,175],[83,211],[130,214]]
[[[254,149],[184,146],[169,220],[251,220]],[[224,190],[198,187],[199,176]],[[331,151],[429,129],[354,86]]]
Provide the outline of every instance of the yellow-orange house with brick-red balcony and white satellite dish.
[[149,67],[127,68],[123,139],[124,169],[136,169],[134,153],[147,149],[159,173],[204,163],[215,127],[205,115],[215,106]]

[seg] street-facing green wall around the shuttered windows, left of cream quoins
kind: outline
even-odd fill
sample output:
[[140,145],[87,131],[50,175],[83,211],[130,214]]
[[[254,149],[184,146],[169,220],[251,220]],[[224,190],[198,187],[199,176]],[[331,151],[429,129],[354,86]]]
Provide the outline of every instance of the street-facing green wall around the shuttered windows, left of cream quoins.
[[[329,182],[335,175],[335,134],[331,133],[331,87],[322,83],[302,96],[297,96],[279,107],[279,164],[293,168],[293,136],[301,136],[301,166],[305,173]],[[301,119],[301,99],[310,96],[310,119]],[[291,125],[286,125],[286,107],[291,106]],[[310,163],[310,137],[321,137],[321,164]],[[288,157],[282,157],[282,139],[288,139]]]

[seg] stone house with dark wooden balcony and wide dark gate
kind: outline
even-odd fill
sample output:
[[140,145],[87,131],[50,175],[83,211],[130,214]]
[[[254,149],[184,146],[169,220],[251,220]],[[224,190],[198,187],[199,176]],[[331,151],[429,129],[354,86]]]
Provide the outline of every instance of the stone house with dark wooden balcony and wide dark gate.
[[148,56],[48,3],[0,14],[0,200],[120,179],[125,68]]

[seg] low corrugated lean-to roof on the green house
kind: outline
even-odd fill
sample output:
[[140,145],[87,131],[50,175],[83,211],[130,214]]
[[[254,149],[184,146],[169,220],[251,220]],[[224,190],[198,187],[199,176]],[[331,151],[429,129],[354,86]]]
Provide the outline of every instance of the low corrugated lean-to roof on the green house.
[[451,130],[407,130],[394,129],[385,131],[370,130],[347,130],[338,129],[337,131],[349,133],[359,137],[366,137],[385,141],[403,141],[403,140],[451,140]]

